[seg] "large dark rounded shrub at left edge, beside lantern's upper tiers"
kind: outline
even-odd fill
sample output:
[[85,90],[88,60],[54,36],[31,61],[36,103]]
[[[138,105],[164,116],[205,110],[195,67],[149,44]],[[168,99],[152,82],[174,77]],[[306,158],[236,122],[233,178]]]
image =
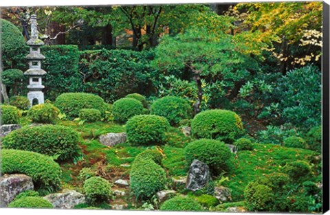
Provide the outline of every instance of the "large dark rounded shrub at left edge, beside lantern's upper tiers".
[[13,23],[0,19],[1,29],[1,51],[3,70],[10,68],[23,69],[25,67],[25,55],[28,47],[21,30]]

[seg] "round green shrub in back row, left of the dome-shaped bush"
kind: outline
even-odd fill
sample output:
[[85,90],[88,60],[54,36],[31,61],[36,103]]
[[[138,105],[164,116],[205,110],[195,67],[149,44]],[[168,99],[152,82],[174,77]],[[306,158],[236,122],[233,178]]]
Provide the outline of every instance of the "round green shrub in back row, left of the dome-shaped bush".
[[143,105],[133,98],[122,98],[113,103],[113,120],[126,122],[129,118],[143,113]]

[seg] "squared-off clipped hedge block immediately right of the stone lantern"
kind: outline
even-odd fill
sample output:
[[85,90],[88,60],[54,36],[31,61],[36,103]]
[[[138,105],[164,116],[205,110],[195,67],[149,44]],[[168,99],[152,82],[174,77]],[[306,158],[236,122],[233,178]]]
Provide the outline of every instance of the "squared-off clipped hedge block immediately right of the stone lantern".
[[45,45],[41,47],[41,54],[45,56],[42,67],[47,71],[43,78],[46,98],[55,100],[61,93],[84,91],[76,45]]

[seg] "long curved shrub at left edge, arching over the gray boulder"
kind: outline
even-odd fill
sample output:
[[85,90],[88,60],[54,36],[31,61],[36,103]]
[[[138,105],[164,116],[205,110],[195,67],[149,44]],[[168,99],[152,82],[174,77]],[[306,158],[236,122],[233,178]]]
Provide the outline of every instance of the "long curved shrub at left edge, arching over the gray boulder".
[[36,152],[2,149],[1,159],[3,174],[27,174],[39,192],[55,192],[60,188],[61,168],[51,157]]

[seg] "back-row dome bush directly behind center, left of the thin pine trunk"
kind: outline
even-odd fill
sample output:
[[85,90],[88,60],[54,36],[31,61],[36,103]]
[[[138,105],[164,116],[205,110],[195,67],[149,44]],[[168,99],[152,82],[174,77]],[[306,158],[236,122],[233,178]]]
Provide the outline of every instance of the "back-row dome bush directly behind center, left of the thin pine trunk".
[[165,96],[156,100],[151,105],[151,114],[166,117],[171,125],[177,125],[181,120],[192,116],[189,103],[183,98],[176,96]]

